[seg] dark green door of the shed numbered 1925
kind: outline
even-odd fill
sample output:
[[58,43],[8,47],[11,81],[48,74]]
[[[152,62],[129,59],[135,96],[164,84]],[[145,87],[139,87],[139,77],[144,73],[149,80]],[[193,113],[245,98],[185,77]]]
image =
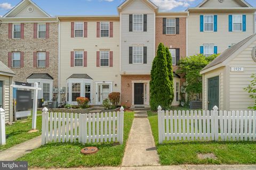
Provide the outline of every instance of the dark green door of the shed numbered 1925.
[[219,76],[208,79],[208,109],[219,107]]

